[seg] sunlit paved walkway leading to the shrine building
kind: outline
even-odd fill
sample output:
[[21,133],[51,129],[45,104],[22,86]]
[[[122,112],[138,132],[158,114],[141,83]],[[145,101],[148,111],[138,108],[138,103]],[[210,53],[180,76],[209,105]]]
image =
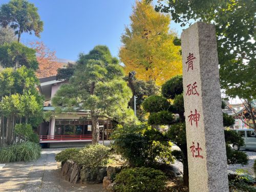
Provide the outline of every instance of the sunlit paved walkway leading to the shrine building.
[[70,184],[60,176],[54,159],[63,149],[42,150],[33,162],[7,163],[0,168],[0,191],[85,191],[101,192],[102,183],[95,185]]

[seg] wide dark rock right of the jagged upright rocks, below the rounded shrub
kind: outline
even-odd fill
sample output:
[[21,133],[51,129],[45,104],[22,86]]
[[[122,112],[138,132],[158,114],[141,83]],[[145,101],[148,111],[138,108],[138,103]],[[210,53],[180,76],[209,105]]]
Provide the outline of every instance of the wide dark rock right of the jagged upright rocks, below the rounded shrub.
[[102,183],[106,176],[106,167],[82,168],[80,171],[80,178],[82,183],[95,184]]

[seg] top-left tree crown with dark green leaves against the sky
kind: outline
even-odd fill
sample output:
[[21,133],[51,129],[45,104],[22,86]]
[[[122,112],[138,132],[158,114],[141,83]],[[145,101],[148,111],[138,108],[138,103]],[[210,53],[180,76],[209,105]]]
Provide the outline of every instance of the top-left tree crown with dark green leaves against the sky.
[[32,34],[33,31],[37,37],[40,37],[44,24],[40,20],[34,4],[27,0],[11,0],[0,7],[0,25],[10,26],[15,30],[19,42],[23,32]]

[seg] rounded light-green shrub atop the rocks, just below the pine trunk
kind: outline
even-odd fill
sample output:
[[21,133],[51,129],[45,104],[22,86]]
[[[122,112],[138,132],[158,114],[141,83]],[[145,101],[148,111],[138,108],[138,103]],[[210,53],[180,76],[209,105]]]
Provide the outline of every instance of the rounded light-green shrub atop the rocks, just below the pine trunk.
[[110,158],[110,150],[101,144],[90,144],[81,148],[74,156],[74,161],[83,168],[105,166]]

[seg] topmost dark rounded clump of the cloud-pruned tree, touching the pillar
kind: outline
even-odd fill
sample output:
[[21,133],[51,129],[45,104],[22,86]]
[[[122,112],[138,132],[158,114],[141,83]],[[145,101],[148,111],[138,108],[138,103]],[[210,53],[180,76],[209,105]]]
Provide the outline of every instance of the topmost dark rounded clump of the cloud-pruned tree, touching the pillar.
[[176,75],[162,85],[162,95],[167,99],[174,99],[183,92],[182,75]]

